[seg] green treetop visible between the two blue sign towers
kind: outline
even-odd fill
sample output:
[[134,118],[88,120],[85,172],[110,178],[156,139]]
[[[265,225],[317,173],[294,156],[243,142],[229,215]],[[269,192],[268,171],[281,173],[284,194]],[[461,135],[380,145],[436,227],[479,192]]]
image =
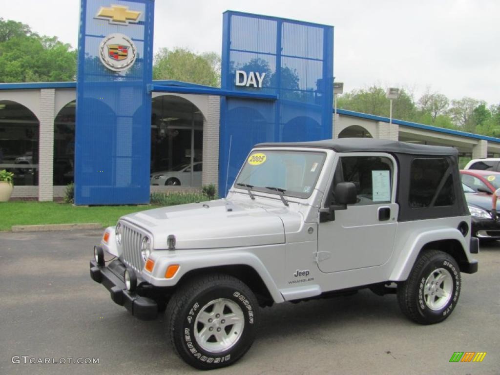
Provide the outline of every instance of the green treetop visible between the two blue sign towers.
[[215,71],[216,59],[208,54],[196,54],[187,48],[161,48],[154,55],[153,79],[175,79],[217,86],[220,73]]

